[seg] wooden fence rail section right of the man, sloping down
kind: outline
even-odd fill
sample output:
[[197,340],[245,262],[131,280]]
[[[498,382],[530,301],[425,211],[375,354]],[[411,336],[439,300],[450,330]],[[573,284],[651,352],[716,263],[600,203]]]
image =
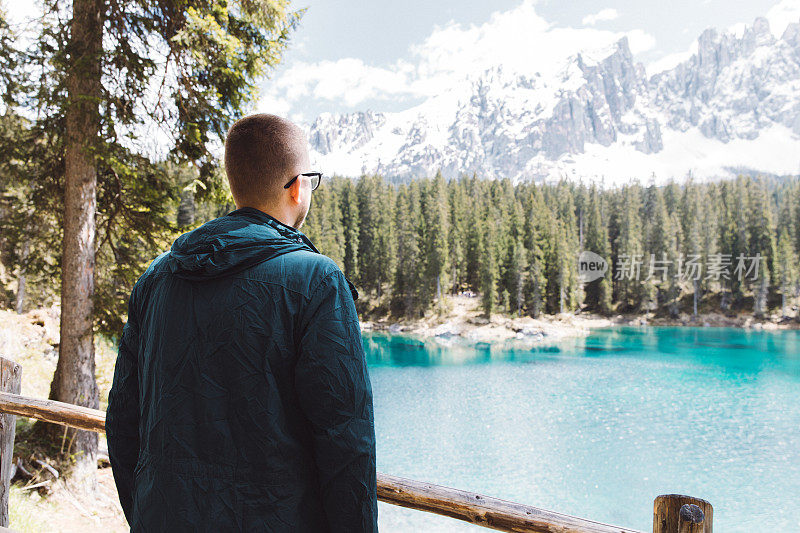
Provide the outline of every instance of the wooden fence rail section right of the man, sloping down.
[[624,527],[387,474],[378,474],[378,499],[499,531],[635,533]]

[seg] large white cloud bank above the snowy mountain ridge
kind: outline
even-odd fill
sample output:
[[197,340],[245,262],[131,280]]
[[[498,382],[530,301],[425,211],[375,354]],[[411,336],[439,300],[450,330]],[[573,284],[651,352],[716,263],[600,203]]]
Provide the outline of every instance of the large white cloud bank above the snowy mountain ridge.
[[[596,16],[610,20],[612,14],[606,11]],[[493,13],[483,24],[436,26],[422,42],[409,47],[406,58],[388,66],[368,65],[357,58],[294,63],[264,84],[259,108],[281,102],[294,109],[309,98],[351,109],[375,100],[425,98],[494,66],[552,76],[569,56],[608,48],[626,36],[634,54],[655,46],[655,38],[640,29],[558,27],[536,12],[533,0],[523,0],[514,9]]]

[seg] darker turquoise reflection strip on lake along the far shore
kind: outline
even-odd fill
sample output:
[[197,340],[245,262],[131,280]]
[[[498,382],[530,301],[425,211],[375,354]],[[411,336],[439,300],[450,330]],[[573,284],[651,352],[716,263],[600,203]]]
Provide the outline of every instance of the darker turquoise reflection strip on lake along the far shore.
[[472,365],[535,362],[549,357],[633,357],[680,360],[725,372],[765,368],[800,373],[800,332],[738,328],[613,327],[558,341],[510,339],[474,342],[461,337],[423,338],[365,332],[370,366]]

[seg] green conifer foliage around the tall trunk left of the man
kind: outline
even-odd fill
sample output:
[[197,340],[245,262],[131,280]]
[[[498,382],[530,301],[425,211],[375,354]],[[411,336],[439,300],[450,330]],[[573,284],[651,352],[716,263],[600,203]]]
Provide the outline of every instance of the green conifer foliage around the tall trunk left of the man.
[[[115,335],[149,261],[180,231],[232,208],[212,148],[256,101],[303,10],[291,11],[287,0],[112,2],[101,56],[77,64],[68,49],[70,7],[44,0],[24,50],[0,16],[0,258],[3,272],[27,279],[30,305],[56,298],[66,80],[100,65],[100,124],[90,147],[97,194],[87,201],[97,209],[95,329]],[[156,131],[167,137],[158,156],[147,148]],[[325,222],[340,227],[336,207],[324,205]],[[343,234],[331,239],[343,247]]]

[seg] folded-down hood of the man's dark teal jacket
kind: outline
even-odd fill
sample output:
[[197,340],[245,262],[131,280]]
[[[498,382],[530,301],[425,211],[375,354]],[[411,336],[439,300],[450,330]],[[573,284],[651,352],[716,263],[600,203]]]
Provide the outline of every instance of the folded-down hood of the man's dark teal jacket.
[[[242,207],[178,237],[165,261],[175,276],[197,281],[235,274],[296,250],[320,253],[303,232],[259,209]],[[355,286],[350,280],[347,284],[357,300]]]

